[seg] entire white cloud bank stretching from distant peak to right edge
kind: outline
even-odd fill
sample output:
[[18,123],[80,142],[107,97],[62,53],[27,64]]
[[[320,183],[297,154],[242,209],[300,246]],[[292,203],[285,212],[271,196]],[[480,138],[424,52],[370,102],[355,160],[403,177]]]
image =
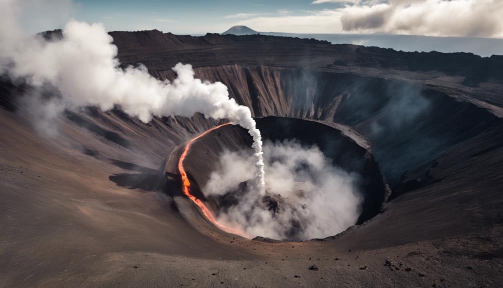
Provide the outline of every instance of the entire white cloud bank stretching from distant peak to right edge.
[[257,16],[238,24],[290,33],[389,33],[503,37],[501,0],[316,0],[346,4],[303,15]]

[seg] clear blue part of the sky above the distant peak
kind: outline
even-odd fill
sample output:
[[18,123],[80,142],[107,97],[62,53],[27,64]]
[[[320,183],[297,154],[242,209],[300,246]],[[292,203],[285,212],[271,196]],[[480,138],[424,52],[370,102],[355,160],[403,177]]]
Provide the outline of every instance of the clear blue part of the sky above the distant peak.
[[301,16],[341,6],[338,3],[312,4],[309,0],[81,0],[76,2],[74,16],[81,21],[103,22],[110,31],[158,29],[173,33],[206,33],[223,32],[257,17]]

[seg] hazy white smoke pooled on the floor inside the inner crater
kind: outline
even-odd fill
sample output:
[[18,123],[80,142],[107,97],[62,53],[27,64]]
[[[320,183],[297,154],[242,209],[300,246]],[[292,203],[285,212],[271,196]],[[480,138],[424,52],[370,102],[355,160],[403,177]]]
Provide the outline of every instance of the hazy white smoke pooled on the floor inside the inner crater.
[[[363,201],[359,175],[332,166],[318,147],[295,141],[267,141],[264,159],[267,194],[279,200],[279,211],[271,211],[262,195],[245,191],[237,196],[237,204],[218,211],[221,225],[236,227],[248,238],[307,240],[356,224]],[[244,152],[224,152],[203,193],[221,196],[235,190],[253,177],[253,160]]]

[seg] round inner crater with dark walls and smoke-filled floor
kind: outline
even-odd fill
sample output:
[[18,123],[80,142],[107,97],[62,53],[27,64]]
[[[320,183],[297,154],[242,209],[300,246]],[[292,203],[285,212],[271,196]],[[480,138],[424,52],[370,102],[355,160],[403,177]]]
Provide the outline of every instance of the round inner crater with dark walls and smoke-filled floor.
[[390,190],[357,132],[297,118],[256,121],[264,139],[265,192],[250,185],[253,140],[239,126],[207,133],[185,156],[190,193],[218,227],[247,238],[298,241],[336,235],[379,213]]

